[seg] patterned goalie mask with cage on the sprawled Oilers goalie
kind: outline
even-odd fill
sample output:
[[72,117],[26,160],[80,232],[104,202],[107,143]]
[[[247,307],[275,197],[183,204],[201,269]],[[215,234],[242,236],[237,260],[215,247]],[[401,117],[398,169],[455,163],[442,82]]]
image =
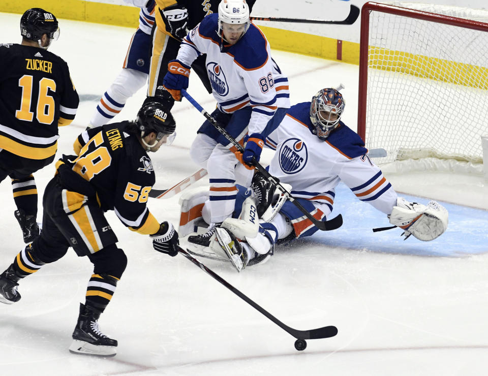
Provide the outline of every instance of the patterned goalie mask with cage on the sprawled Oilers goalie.
[[310,104],[310,120],[315,127],[313,133],[326,140],[338,126],[345,106],[346,102],[339,91],[332,88],[320,90]]

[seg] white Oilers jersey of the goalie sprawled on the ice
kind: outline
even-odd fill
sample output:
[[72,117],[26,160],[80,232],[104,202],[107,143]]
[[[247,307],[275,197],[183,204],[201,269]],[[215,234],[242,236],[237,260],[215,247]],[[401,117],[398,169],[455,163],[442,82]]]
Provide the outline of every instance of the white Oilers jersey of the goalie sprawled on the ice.
[[271,175],[291,184],[294,197],[325,204],[330,211],[335,186],[343,181],[359,200],[390,214],[396,192],[368,157],[361,138],[341,122],[326,141],[319,139],[311,132],[309,110],[310,102],[299,103],[283,120],[273,119],[265,140],[266,146],[276,150],[269,166]]

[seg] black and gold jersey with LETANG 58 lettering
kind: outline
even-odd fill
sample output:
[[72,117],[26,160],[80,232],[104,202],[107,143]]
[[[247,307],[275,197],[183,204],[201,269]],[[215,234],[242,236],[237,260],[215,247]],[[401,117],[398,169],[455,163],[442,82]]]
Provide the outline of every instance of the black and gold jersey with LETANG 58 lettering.
[[88,129],[75,141],[78,155],[63,155],[58,164],[89,181],[103,210],[114,210],[129,229],[150,235],[160,227],[146,207],[156,177],[139,139],[126,132],[131,126],[123,121]]

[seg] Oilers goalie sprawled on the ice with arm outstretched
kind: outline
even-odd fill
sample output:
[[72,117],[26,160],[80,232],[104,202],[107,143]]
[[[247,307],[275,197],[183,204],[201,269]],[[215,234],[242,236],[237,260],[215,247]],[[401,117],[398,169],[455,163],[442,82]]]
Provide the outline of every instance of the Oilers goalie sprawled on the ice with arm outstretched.
[[[335,187],[343,181],[359,200],[387,214],[392,225],[403,229],[405,239],[413,235],[427,241],[440,236],[447,228],[447,210],[435,201],[422,205],[398,197],[380,168],[370,160],[362,139],[341,121],[344,108],[341,93],[325,88],[311,102],[296,104],[284,116],[273,117],[265,138],[266,146],[276,150],[269,173],[282,184],[289,184],[293,197],[318,220],[325,221],[332,211]],[[241,198],[236,201],[243,203],[234,212],[239,218],[225,220],[208,249],[200,249],[200,253],[230,259],[240,271],[246,265],[266,260],[275,244],[318,231],[296,206],[285,200],[278,200],[267,209],[258,228],[254,215],[260,203],[245,198],[244,192],[240,191]],[[182,203],[192,206],[192,199],[197,202],[194,197]],[[199,203],[204,199],[200,198]],[[182,208],[182,214],[191,210],[188,209]],[[192,218],[182,215],[181,224],[185,226],[195,217],[195,212]]]

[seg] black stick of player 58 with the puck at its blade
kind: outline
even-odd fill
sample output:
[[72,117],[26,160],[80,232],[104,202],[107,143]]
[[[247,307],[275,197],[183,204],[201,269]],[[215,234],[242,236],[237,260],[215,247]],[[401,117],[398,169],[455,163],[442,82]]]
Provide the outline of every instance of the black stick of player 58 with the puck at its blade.
[[[210,270],[205,265],[203,265],[200,261],[198,261],[197,259],[192,257],[185,249],[178,247],[178,252],[181,255],[185,256],[188,260],[190,260],[196,266],[198,266],[200,269],[202,269],[205,273],[210,275],[212,278],[218,280],[222,285],[224,285],[226,288],[228,288],[230,291],[232,291],[235,295],[237,295],[243,301],[252,305],[256,310],[261,312],[261,314],[266,316],[269,320],[271,320],[273,323],[278,325],[280,328],[282,328],[283,330],[285,330],[286,332],[291,334],[296,339],[303,340],[303,339],[329,338],[329,337],[333,337],[334,335],[337,334],[338,330],[335,326],[324,326],[322,328],[311,329],[311,330],[297,330],[297,329],[290,328],[289,326],[285,325],[280,320],[278,320],[275,316],[271,315],[267,310],[265,310],[263,307],[261,307],[259,304],[257,304],[254,300],[248,298],[246,295],[244,295],[239,290],[237,290],[234,286],[229,284],[219,274]],[[305,343],[304,346],[307,346],[307,344]],[[296,342],[295,342],[295,347],[297,348]],[[303,349],[304,349],[304,347],[303,347]],[[301,350],[303,350],[303,349],[301,349]],[[299,349],[297,348],[297,350],[299,350]]]

